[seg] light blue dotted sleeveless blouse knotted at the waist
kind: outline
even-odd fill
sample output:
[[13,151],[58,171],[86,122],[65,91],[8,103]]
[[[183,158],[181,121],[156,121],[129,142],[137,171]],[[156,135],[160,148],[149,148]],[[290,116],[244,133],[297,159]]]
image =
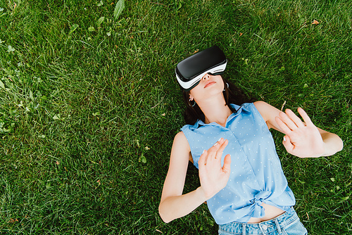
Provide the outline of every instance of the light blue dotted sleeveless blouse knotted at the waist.
[[294,193],[287,185],[265,120],[253,103],[231,106],[237,113],[227,118],[226,127],[198,120],[181,129],[197,168],[204,149],[208,150],[221,137],[229,141],[222,154],[222,164],[225,155],[230,154],[230,179],[224,189],[207,201],[211,215],[217,224],[227,224],[264,217],[261,203],[289,210],[295,204]]

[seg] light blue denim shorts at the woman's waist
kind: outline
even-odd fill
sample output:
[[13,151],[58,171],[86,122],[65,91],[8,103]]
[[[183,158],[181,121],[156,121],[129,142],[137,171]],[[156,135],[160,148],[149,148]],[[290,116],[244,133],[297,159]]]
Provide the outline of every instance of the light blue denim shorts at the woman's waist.
[[307,229],[299,221],[294,208],[272,220],[260,222],[258,224],[247,224],[240,222],[230,222],[219,225],[220,235],[244,235],[244,234],[265,234],[265,235],[304,235],[308,234]]

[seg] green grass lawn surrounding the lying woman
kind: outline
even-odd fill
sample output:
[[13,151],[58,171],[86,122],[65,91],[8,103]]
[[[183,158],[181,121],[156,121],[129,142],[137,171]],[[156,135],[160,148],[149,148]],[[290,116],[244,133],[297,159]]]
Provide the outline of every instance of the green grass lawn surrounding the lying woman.
[[118,18],[102,2],[0,0],[0,234],[215,234],[206,205],[158,215],[184,125],[175,65],[213,44],[247,94],[344,140],[299,159],[273,132],[310,234],[352,233],[350,1],[126,1]]

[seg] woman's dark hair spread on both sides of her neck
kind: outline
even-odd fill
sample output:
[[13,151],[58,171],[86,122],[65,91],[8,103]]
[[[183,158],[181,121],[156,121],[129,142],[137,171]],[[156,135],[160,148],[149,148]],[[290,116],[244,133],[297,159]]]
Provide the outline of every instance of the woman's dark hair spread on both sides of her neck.
[[[230,106],[230,103],[241,106],[243,103],[254,101],[253,98],[246,96],[244,92],[241,91],[241,89],[236,87],[231,82],[225,80],[223,77],[222,81],[224,81],[225,84],[225,90],[222,91],[222,94],[224,95],[226,105],[229,106],[233,113],[236,113],[237,110],[233,110],[233,108]],[[197,103],[191,103],[191,101],[189,101],[189,91],[182,91],[182,95],[184,103],[186,103],[186,110],[184,110],[184,121],[189,125],[194,125],[194,123],[196,123],[198,120],[202,120],[204,122],[206,117],[204,116],[201,108],[199,108]]]

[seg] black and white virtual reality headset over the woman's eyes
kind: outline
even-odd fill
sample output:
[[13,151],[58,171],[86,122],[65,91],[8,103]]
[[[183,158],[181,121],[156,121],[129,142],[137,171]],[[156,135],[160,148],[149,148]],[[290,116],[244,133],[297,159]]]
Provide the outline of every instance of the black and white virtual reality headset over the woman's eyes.
[[196,87],[207,73],[220,75],[225,71],[227,59],[218,46],[212,46],[189,56],[176,66],[176,78],[181,88],[189,91]]

